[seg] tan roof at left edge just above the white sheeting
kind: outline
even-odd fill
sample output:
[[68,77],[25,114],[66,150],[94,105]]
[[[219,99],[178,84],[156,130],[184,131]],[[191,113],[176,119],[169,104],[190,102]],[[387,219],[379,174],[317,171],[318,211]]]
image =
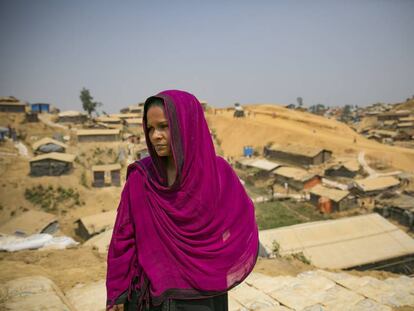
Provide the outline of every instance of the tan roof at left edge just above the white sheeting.
[[16,216],[0,227],[0,234],[8,235],[23,233],[32,235],[41,233],[48,225],[57,221],[53,214],[30,210]]

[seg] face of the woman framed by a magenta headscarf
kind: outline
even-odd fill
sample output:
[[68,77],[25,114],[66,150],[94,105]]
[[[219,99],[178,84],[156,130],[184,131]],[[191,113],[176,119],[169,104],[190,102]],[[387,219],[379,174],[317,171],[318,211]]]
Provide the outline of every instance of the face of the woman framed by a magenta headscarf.
[[171,156],[171,136],[164,109],[151,106],[147,111],[147,130],[155,151],[160,157]]

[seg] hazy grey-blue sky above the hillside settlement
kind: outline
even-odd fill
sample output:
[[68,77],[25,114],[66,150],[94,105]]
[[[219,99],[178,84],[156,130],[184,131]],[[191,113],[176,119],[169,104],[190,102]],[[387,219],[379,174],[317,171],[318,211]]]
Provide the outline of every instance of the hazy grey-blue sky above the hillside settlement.
[[414,1],[0,0],[0,96],[116,112],[164,89],[214,106],[414,95]]

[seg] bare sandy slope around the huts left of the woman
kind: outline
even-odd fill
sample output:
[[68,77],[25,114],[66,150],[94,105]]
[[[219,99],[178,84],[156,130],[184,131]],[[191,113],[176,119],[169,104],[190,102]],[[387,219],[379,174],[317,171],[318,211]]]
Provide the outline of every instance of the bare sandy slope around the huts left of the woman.
[[[75,154],[74,169],[68,175],[32,177],[29,175],[29,159],[33,157],[31,145],[43,137],[52,137],[59,133],[73,137],[73,131],[52,128],[41,122],[24,123],[22,117],[13,114],[0,114],[1,124],[10,124],[15,127],[19,134],[23,133],[24,145],[29,151],[28,157],[18,155],[17,149],[10,141],[0,146],[0,224],[6,222],[13,216],[23,213],[25,210],[42,210],[40,206],[34,205],[25,198],[25,191],[41,185],[56,189],[73,189],[79,194],[80,203],[74,205],[69,200],[67,204],[59,204],[57,210],[51,213],[58,216],[61,231],[68,236],[79,239],[75,235],[74,221],[80,217],[101,213],[116,209],[120,198],[122,187],[91,187],[91,167],[95,164],[113,163],[117,159],[120,149],[126,148],[125,143],[82,143],[77,144],[71,140],[68,144],[67,153]],[[1,153],[2,152],[2,153]],[[125,166],[121,170],[121,181],[125,180]]]

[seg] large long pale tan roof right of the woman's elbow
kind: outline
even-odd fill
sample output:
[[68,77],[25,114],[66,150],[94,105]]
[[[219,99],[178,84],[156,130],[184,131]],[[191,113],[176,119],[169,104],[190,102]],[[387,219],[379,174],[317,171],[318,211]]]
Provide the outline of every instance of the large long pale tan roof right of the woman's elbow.
[[268,254],[277,241],[281,255],[303,252],[319,268],[346,269],[414,254],[414,240],[378,214],[262,230],[259,237]]

